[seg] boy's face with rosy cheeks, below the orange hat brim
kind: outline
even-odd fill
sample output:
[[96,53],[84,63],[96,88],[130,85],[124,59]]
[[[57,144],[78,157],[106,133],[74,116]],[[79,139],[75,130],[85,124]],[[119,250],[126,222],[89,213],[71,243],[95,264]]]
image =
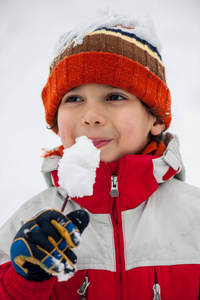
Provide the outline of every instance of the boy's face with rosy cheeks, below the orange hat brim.
[[58,109],[58,133],[64,148],[85,135],[101,150],[105,162],[140,154],[149,133],[157,135],[164,128],[136,96],[107,85],[78,86],[65,94]]

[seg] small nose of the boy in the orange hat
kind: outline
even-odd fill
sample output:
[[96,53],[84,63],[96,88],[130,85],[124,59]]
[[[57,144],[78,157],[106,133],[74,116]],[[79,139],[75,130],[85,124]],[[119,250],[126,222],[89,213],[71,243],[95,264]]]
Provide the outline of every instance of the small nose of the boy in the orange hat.
[[87,105],[81,120],[84,126],[103,126],[106,123],[105,115],[99,105]]

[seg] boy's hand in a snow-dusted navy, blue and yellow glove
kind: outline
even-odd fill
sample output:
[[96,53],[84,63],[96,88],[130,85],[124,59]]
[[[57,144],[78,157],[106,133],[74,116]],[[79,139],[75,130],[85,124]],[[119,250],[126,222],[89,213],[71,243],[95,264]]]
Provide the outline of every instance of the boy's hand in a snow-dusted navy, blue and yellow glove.
[[40,212],[18,231],[11,246],[11,261],[27,280],[43,281],[53,275],[75,273],[77,257],[72,251],[89,223],[84,210],[65,216],[55,209]]

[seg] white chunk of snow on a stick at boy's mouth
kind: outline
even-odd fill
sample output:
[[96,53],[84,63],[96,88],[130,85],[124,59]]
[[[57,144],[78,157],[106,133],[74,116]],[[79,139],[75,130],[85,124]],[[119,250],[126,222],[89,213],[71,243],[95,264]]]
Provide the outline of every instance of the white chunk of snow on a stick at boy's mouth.
[[99,162],[100,150],[92,141],[86,136],[77,138],[72,147],[64,149],[60,159],[59,185],[70,197],[91,196]]

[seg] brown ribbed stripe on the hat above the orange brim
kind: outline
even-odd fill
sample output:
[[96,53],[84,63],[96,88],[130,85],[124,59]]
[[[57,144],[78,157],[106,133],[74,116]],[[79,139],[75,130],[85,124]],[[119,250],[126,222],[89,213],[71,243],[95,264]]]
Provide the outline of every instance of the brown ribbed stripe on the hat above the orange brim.
[[[162,81],[165,80],[165,69],[159,58],[153,57],[153,54],[149,53],[149,49],[146,45],[137,45],[138,41],[134,42],[134,39],[125,40],[120,36],[113,35],[108,32],[99,34],[89,34],[83,38],[83,42],[80,45],[74,46],[75,41],[70,43],[64,51],[54,59],[50,66],[50,72],[57,66],[57,64],[65,57],[69,57],[73,54],[86,53],[86,52],[108,52],[123,55],[131,60],[143,65],[155,75],[157,75]],[[152,51],[151,51],[152,52]]]

